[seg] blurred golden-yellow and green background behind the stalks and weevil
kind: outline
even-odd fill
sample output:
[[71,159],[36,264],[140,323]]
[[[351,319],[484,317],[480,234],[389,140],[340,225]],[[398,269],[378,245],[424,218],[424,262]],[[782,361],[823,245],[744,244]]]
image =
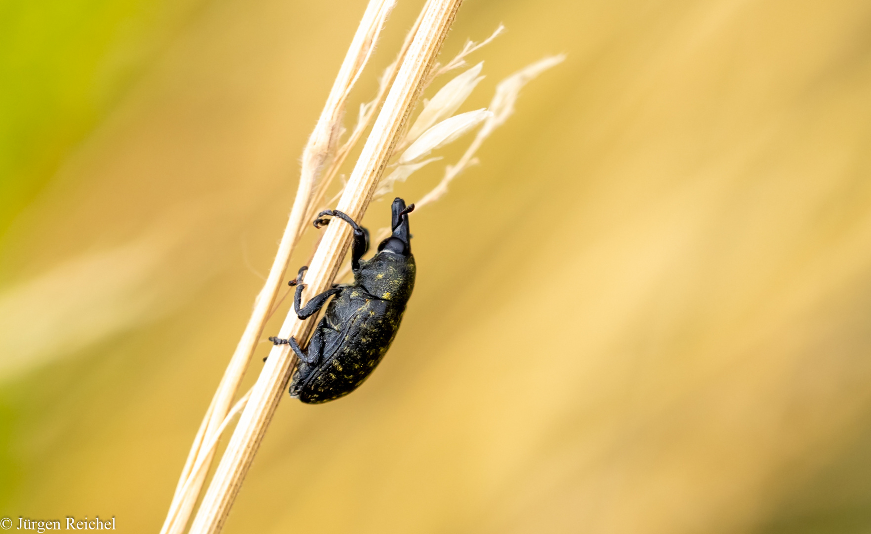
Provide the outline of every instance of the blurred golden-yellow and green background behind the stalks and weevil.
[[[0,515],[159,531],[364,7],[0,3]],[[444,55],[501,22],[461,111],[566,61],[412,217],[394,347],[280,403],[226,532],[871,531],[871,3],[468,0]]]

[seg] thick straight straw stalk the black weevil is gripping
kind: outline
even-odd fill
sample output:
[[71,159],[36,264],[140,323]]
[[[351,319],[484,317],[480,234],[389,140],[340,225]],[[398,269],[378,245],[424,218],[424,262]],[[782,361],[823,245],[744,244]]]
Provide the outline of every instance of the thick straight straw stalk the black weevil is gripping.
[[[442,42],[460,3],[462,0],[429,0],[424,7],[414,40],[408,47],[372,132],[363,146],[360,159],[348,179],[348,186],[339,200],[338,209],[348,213],[354,220],[361,220],[375,193],[375,187],[393,152],[397,137],[418,98],[438,51],[442,48]],[[330,287],[341,260],[348,251],[350,238],[350,226],[327,226],[309,264],[304,300]],[[304,340],[313,322],[314,318],[300,321],[291,311],[279,330],[279,336],[294,336],[298,340]],[[295,356],[287,345],[273,346],[206,490],[197,516],[193,519],[192,534],[214,534],[221,530],[269,420],[280,398],[286,395],[285,387],[294,363]]]

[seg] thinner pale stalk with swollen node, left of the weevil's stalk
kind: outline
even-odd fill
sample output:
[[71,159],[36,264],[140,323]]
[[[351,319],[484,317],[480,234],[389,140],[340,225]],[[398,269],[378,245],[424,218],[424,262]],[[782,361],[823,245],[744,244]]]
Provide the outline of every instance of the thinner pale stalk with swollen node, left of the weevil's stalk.
[[[254,301],[251,318],[248,320],[236,350],[233,352],[233,357],[227,365],[212,402],[206,410],[206,416],[199,426],[199,431],[194,437],[185,467],[182,469],[179,483],[172,497],[169,513],[160,531],[161,534],[180,534],[185,530],[193,505],[196,503],[200,489],[206,480],[206,473],[212,462],[220,430],[226,426],[233,396],[236,395],[236,390],[239,388],[245,369],[254,353],[254,348],[260,341],[263,328],[272,314],[281,282],[287,270],[287,264],[294,252],[302,229],[306,226],[312,192],[318,185],[324,167],[334,159],[341,131],[341,118],[345,112],[348,94],[375,49],[381,28],[394,5],[395,0],[370,0],[354,34],[354,39],[341,64],[339,74],[335,78],[321,117],[318,119],[314,132],[308,139],[302,154],[300,184],[297,187],[294,207],[287,220],[287,227],[281,237],[273,266],[269,271],[266,283]],[[210,446],[204,446],[204,444]],[[195,466],[199,466],[199,469],[194,469]]]

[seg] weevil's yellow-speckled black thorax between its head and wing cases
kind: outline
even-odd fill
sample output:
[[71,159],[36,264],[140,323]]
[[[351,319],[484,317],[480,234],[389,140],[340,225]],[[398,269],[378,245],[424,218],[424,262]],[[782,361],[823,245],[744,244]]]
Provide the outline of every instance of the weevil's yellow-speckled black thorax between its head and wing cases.
[[354,274],[354,284],[368,294],[385,301],[402,303],[415,288],[415,257],[382,250],[371,260],[360,262],[360,271]]

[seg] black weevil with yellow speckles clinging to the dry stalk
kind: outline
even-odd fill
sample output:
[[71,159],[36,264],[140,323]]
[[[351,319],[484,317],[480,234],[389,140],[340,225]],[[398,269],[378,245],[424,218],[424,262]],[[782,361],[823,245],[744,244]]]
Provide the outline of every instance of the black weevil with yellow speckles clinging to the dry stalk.
[[408,213],[415,205],[405,207],[405,201],[393,201],[391,227],[393,235],[381,241],[378,253],[371,260],[361,260],[368,251],[368,231],[347,214],[339,210],[325,210],[318,214],[314,226],[320,228],[329,222],[325,215],[338,217],[354,228],[351,268],[354,283],[334,285],[314,296],[301,307],[302,275],[308,267],[300,268],[295,281],[294,311],[300,319],[318,313],[327,299],[335,298],[314,329],[304,352],[296,340],[270,337],[276,345],[288,343],[299,357],[300,363],[290,384],[290,395],[302,402],[318,403],[337,399],[354,391],[368,377],[387,349],[399,323],[411,291],[415,287],[415,257],[411,254],[411,235],[408,233]]

